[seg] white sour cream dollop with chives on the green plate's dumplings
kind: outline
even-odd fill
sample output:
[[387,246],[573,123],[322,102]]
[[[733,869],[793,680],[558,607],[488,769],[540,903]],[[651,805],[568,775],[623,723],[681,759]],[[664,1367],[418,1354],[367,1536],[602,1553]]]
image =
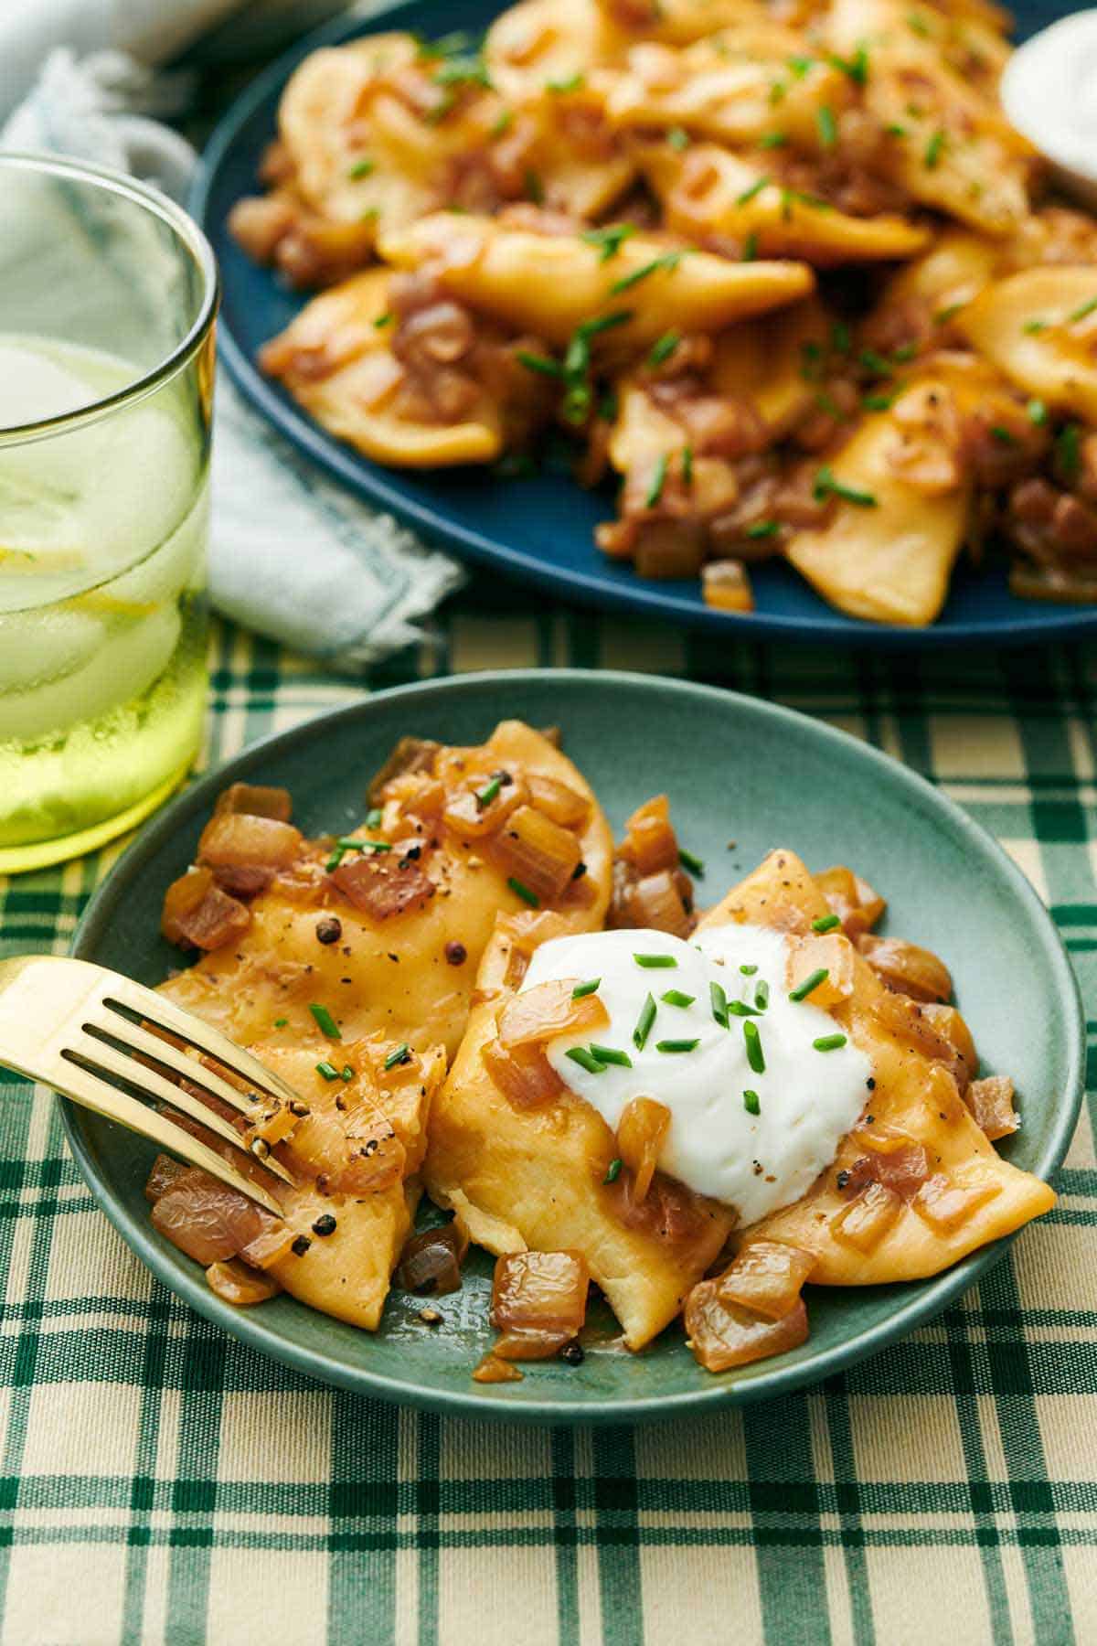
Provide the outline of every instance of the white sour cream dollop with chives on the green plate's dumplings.
[[[645,966],[636,955],[664,963]],[[666,1104],[671,1129],[660,1167],[735,1207],[743,1225],[808,1192],[868,1098],[872,1063],[852,1040],[832,1050],[814,1045],[840,1030],[809,1001],[789,1001],[788,955],[783,933],[757,925],[714,927],[691,942],[666,932],[589,932],[543,943],[521,984],[525,993],[561,978],[599,979],[609,1024],[558,1035],[546,1047],[549,1063],[613,1131],[632,1098]],[[761,986],[766,1006],[724,1027],[714,1017],[712,984],[745,1006],[757,1004]],[[648,994],[656,1016],[638,1049],[633,1030]],[[763,1070],[750,1063],[745,1024],[758,1029]],[[689,1050],[668,1049],[692,1040]],[[607,1063],[595,1073],[567,1057],[592,1042],[625,1052],[632,1067]]]

